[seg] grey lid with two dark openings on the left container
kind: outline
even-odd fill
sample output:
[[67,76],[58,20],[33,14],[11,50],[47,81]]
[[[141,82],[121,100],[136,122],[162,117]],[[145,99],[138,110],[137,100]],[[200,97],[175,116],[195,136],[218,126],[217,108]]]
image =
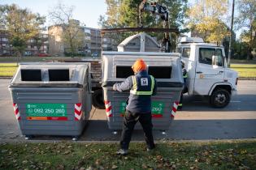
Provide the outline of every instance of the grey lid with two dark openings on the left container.
[[22,63],[9,87],[83,87],[88,71],[89,63]]

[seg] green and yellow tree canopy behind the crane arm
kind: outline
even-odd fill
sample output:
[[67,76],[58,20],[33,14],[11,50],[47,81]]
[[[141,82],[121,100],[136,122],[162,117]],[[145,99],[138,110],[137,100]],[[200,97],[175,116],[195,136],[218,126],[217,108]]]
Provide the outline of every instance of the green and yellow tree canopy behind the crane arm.
[[[141,2],[141,0],[106,0],[106,16],[100,16],[99,25],[102,28],[139,27],[139,5]],[[184,28],[187,0],[158,0],[157,2],[167,6],[170,27],[182,30]],[[162,20],[158,16],[147,12],[142,13],[142,23],[144,28],[163,28]],[[129,35],[131,34],[125,33],[120,40]]]

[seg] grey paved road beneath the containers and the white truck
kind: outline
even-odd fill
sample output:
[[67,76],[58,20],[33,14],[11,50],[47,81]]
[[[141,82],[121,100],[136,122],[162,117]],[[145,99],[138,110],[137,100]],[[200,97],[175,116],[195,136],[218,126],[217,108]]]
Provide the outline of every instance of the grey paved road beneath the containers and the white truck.
[[[9,81],[0,79],[0,138],[24,140],[7,90]],[[108,130],[104,110],[93,109],[91,117],[80,140],[119,140],[120,133],[114,135]],[[223,109],[210,108],[200,97],[184,96],[183,111],[177,113],[170,130],[166,135],[155,130],[154,137],[158,140],[256,138],[256,81],[240,81],[238,95]],[[35,139],[70,140],[69,137],[49,136]],[[143,132],[135,130],[132,139],[143,140]]]

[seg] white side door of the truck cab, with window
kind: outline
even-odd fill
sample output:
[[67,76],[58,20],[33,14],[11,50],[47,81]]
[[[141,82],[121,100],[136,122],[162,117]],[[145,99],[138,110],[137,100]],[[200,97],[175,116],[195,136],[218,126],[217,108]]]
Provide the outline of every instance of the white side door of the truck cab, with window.
[[199,47],[193,94],[208,95],[210,88],[224,79],[222,49]]

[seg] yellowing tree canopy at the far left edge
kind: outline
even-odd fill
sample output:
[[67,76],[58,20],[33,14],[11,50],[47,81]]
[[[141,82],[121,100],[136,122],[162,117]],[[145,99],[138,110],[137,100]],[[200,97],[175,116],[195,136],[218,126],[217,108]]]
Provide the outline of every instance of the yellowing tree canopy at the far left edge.
[[20,55],[23,53],[29,39],[39,35],[44,29],[46,17],[35,14],[27,8],[19,6],[0,5],[0,25],[9,35],[11,45]]

